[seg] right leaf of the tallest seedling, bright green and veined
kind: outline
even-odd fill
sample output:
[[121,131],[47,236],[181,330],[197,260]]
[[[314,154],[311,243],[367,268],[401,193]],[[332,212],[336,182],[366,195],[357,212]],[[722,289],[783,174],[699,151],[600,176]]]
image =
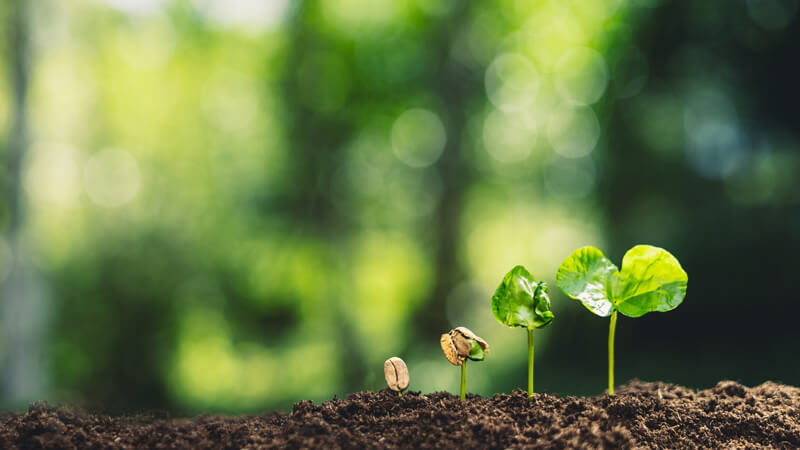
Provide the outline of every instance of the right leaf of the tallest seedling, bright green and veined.
[[619,275],[622,280],[615,288],[614,303],[628,317],[675,309],[686,296],[689,277],[678,260],[663,248],[637,245],[628,250]]

